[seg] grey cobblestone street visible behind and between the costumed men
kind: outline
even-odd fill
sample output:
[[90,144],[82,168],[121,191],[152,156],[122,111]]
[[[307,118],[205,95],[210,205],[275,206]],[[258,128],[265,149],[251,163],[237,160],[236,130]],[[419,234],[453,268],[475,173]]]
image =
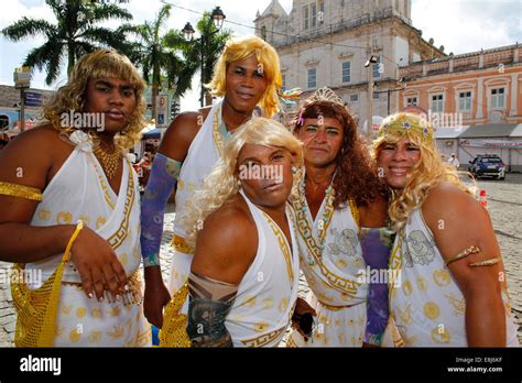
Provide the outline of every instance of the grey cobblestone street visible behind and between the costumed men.
[[[491,215],[497,238],[502,251],[511,297],[512,314],[519,326],[519,340],[522,343],[522,174],[508,174],[505,180],[479,180],[478,185],[488,195],[488,208]],[[168,280],[173,237],[173,206],[168,206],[165,216],[165,231],[161,249],[164,280]],[[0,262],[1,269],[10,264]],[[0,275],[6,275],[2,273]],[[308,292],[306,282],[301,275],[300,295]],[[15,316],[7,281],[0,281],[0,347],[12,347]]]

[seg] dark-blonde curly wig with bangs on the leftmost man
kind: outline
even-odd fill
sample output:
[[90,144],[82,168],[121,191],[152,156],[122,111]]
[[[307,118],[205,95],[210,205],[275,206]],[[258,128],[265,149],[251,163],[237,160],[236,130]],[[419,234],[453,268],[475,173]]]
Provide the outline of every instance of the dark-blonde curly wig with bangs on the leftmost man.
[[[113,50],[98,50],[83,56],[70,72],[67,84],[59,88],[54,98],[44,106],[43,113],[46,122],[65,133],[75,130],[74,127],[64,127],[62,113],[83,112],[86,105],[87,83],[90,78],[113,77],[130,81],[134,87],[135,109],[128,125],[115,136],[115,143],[121,151],[133,147],[141,139],[141,130],[145,125],[145,100],[143,91],[145,84],[138,69],[129,58]],[[99,139],[89,129],[95,143]]]

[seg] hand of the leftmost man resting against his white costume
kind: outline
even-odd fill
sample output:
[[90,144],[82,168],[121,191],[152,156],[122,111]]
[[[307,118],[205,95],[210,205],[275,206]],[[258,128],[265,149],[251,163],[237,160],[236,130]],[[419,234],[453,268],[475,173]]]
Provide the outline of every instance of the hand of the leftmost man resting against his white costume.
[[101,302],[105,291],[109,291],[115,298],[121,296],[127,285],[127,275],[109,242],[91,229],[84,228],[70,252],[70,262],[76,266],[89,298],[94,293]]

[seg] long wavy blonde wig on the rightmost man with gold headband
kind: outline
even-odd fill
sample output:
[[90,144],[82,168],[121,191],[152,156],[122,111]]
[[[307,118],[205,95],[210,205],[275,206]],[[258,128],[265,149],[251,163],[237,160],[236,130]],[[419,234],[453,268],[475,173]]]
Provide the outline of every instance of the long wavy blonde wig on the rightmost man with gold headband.
[[418,147],[421,160],[407,175],[404,188],[392,189],[388,212],[395,230],[404,227],[410,214],[422,206],[434,186],[443,182],[472,195],[471,190],[459,180],[454,166],[443,162],[434,142],[433,128],[420,114],[396,113],[382,121],[378,138],[373,142],[376,161],[379,160],[384,145],[398,143],[404,138]]

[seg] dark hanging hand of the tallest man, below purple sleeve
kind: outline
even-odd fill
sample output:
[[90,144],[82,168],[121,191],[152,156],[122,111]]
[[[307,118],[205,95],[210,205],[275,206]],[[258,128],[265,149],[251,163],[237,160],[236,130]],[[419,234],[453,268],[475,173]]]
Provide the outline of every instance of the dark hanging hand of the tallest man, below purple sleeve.
[[157,328],[163,327],[163,307],[171,302],[171,294],[163,283],[160,266],[145,267],[145,294],[143,311],[146,320]]

